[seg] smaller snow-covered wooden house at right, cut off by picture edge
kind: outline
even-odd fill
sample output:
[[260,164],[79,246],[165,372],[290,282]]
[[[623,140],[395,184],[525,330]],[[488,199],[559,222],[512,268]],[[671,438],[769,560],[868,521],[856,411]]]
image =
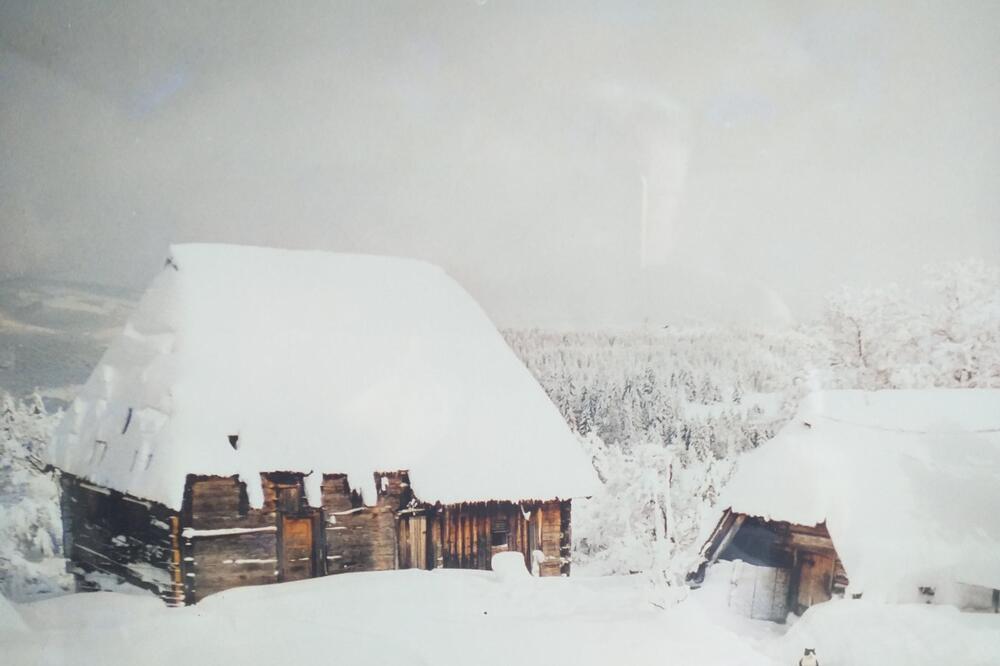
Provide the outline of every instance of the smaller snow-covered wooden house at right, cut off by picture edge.
[[753,617],[862,595],[996,610],[1000,391],[815,393],[720,506],[696,579],[735,561],[730,605]]

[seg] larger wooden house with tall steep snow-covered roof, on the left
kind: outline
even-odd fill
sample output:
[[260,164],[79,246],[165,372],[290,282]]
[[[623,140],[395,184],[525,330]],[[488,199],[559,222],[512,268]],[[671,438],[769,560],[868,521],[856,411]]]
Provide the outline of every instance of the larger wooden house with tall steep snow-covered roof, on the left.
[[596,476],[486,314],[423,262],[179,245],[69,409],[67,557],[171,603],[520,551],[568,573]]

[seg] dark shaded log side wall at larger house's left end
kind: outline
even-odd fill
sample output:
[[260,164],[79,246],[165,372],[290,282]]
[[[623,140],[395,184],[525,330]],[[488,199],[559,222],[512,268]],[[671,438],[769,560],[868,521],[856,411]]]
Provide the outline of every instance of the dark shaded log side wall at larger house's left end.
[[63,546],[81,590],[99,572],[152,591],[171,605],[184,603],[180,519],[162,504],[60,476]]

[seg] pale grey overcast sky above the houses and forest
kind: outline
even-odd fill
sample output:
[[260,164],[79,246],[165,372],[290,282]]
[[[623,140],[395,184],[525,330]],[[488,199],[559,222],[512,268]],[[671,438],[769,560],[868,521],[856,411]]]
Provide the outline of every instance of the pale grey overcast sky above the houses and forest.
[[500,325],[1000,262],[1000,3],[0,0],[0,275],[395,254]]

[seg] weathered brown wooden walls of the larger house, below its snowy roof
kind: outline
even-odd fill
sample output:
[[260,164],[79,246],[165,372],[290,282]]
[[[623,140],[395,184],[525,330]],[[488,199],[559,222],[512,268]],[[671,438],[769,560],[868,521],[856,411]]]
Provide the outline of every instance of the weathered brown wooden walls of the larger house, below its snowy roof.
[[[124,506],[120,494],[84,492],[67,476],[67,553],[85,570],[137,584],[144,581],[135,571],[147,570],[136,563],[162,569],[162,580],[144,586],[174,603],[349,571],[489,569],[493,555],[505,550],[522,553],[529,569],[532,551],[542,551],[540,575],[569,573],[569,501],[432,506],[414,498],[405,471],[377,473],[375,481],[375,504],[366,506],[345,475],[324,475],[316,509],[306,501],[303,475],[261,474],[264,501],[254,509],[238,477],[190,475],[178,513],[142,501]],[[150,523],[151,516],[158,518]],[[102,527],[109,520],[118,522]]]

